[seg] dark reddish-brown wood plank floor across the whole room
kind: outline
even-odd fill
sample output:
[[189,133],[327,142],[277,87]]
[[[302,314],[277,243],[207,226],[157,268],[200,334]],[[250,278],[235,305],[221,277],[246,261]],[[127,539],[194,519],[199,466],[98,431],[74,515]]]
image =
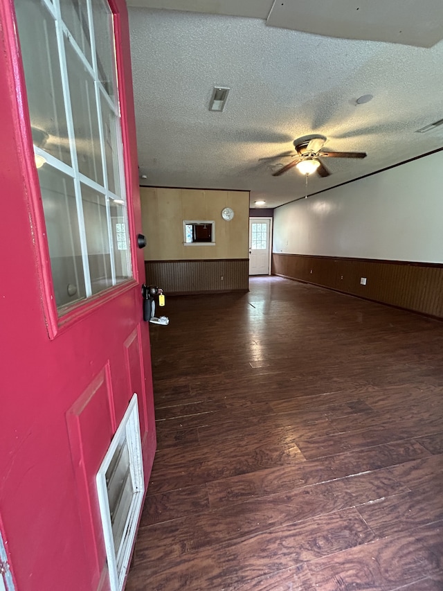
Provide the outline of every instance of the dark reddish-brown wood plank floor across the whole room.
[[443,323],[280,279],[170,298],[127,591],[443,590]]

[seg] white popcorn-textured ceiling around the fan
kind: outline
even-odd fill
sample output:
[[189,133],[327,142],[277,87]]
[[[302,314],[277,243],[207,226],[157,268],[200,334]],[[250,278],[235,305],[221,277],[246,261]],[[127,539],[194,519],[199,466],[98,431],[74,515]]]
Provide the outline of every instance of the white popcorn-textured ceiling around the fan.
[[[132,0],[142,1],[161,4]],[[443,118],[443,42],[421,48],[275,28],[266,4],[257,1],[255,13],[251,2],[233,3],[257,18],[129,8],[142,184],[246,189],[251,204],[275,207],[306,193],[296,168],[272,176],[290,158],[268,159],[300,136],[323,134],[325,148],[368,154],[327,159],[331,175],[309,177],[309,194],[442,148],[443,126],[416,130]],[[216,85],[230,88],[221,113],[208,110]],[[374,98],[356,105],[363,94]]]

